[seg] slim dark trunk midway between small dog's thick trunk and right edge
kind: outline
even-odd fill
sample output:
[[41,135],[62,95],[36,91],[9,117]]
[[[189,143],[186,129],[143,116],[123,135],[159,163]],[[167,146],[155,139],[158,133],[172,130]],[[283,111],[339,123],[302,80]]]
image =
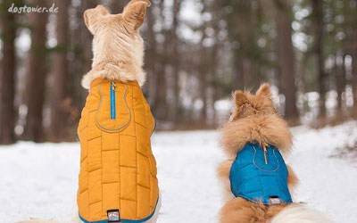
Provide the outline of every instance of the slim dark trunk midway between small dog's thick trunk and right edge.
[[314,51],[315,51],[315,60],[316,60],[316,68],[318,71],[318,92],[320,94],[319,101],[319,110],[320,110],[320,118],[326,117],[326,71],[324,68],[324,52],[323,52],[323,44],[324,44],[324,22],[323,22],[323,2],[320,0],[311,0],[312,2],[312,18],[314,22],[315,29],[315,43],[314,43]]

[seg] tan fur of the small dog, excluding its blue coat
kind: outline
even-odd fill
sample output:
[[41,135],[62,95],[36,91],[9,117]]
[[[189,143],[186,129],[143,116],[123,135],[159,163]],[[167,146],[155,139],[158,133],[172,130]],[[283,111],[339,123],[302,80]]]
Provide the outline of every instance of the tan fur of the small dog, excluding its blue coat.
[[[293,140],[286,121],[280,118],[274,108],[268,84],[262,85],[256,95],[237,91],[234,94],[233,107],[230,120],[221,129],[220,145],[228,155],[228,160],[223,161],[217,171],[223,184],[223,199],[226,202],[220,211],[220,223],[286,223],[290,222],[288,220],[322,222],[314,220],[326,220],[317,211],[306,211],[308,209],[300,204],[263,205],[234,196],[230,189],[229,171],[237,153],[246,143],[275,145],[281,153],[287,154],[291,151]],[[293,169],[286,166],[288,169],[287,185],[290,192],[293,192],[298,179]],[[299,219],[294,219],[296,216]],[[302,217],[307,221],[301,221]]]

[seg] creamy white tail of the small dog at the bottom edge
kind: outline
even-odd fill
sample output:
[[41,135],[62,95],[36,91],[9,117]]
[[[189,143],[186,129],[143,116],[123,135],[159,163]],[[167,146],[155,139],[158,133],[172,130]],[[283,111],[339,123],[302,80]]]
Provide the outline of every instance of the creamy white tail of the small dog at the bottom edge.
[[332,223],[325,215],[306,205],[293,203],[278,212],[270,223]]

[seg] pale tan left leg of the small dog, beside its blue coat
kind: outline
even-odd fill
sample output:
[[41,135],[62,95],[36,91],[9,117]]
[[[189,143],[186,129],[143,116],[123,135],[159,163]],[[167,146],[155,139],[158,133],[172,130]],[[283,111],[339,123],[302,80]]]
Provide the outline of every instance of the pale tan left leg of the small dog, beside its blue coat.
[[232,167],[233,161],[234,160],[223,161],[222,163],[220,163],[220,166],[217,169],[217,176],[220,179],[220,182],[222,183],[222,188],[223,188],[222,198],[224,202],[228,202],[236,198],[230,189],[230,181],[229,181],[229,172],[230,172],[230,168]]

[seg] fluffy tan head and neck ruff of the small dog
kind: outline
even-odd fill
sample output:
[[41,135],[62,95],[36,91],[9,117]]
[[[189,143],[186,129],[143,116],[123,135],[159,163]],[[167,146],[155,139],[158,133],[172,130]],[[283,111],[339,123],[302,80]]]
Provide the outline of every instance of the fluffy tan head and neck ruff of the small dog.
[[220,143],[230,157],[236,157],[249,142],[275,145],[286,153],[291,149],[290,130],[274,108],[268,84],[255,95],[236,91],[231,117],[222,128]]

